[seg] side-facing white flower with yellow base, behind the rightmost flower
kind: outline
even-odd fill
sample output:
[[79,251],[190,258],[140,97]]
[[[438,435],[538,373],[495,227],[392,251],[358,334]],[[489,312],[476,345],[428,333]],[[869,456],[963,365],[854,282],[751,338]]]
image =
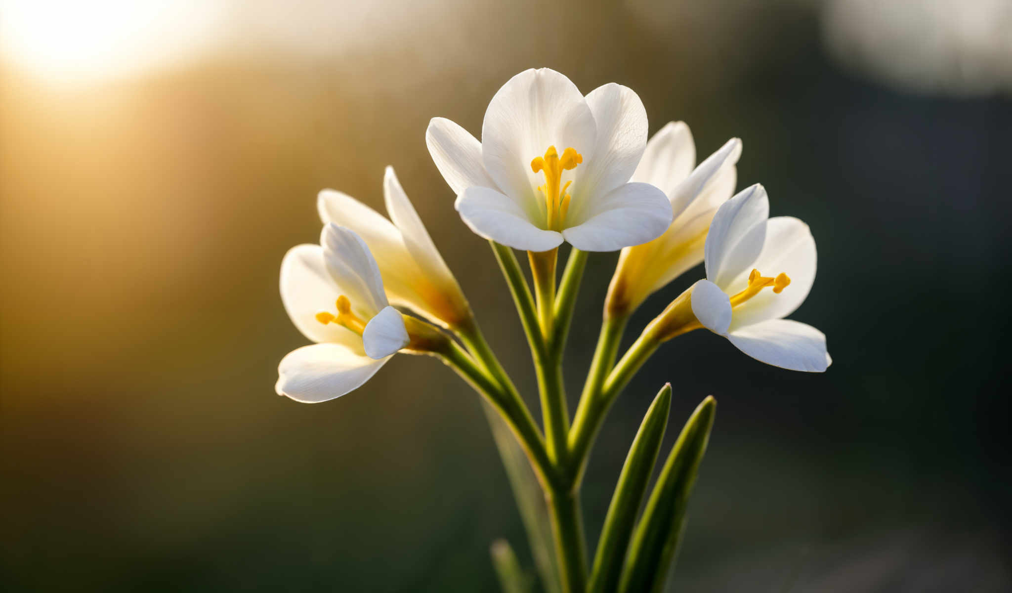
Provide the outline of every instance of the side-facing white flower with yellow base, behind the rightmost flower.
[[703,260],[706,230],[716,208],[735,192],[741,154],[742,142],[733,138],[694,167],[695,145],[683,121],[668,123],[650,139],[632,180],[662,189],[674,220],[657,239],[622,249],[608,286],[609,314],[630,313]]

